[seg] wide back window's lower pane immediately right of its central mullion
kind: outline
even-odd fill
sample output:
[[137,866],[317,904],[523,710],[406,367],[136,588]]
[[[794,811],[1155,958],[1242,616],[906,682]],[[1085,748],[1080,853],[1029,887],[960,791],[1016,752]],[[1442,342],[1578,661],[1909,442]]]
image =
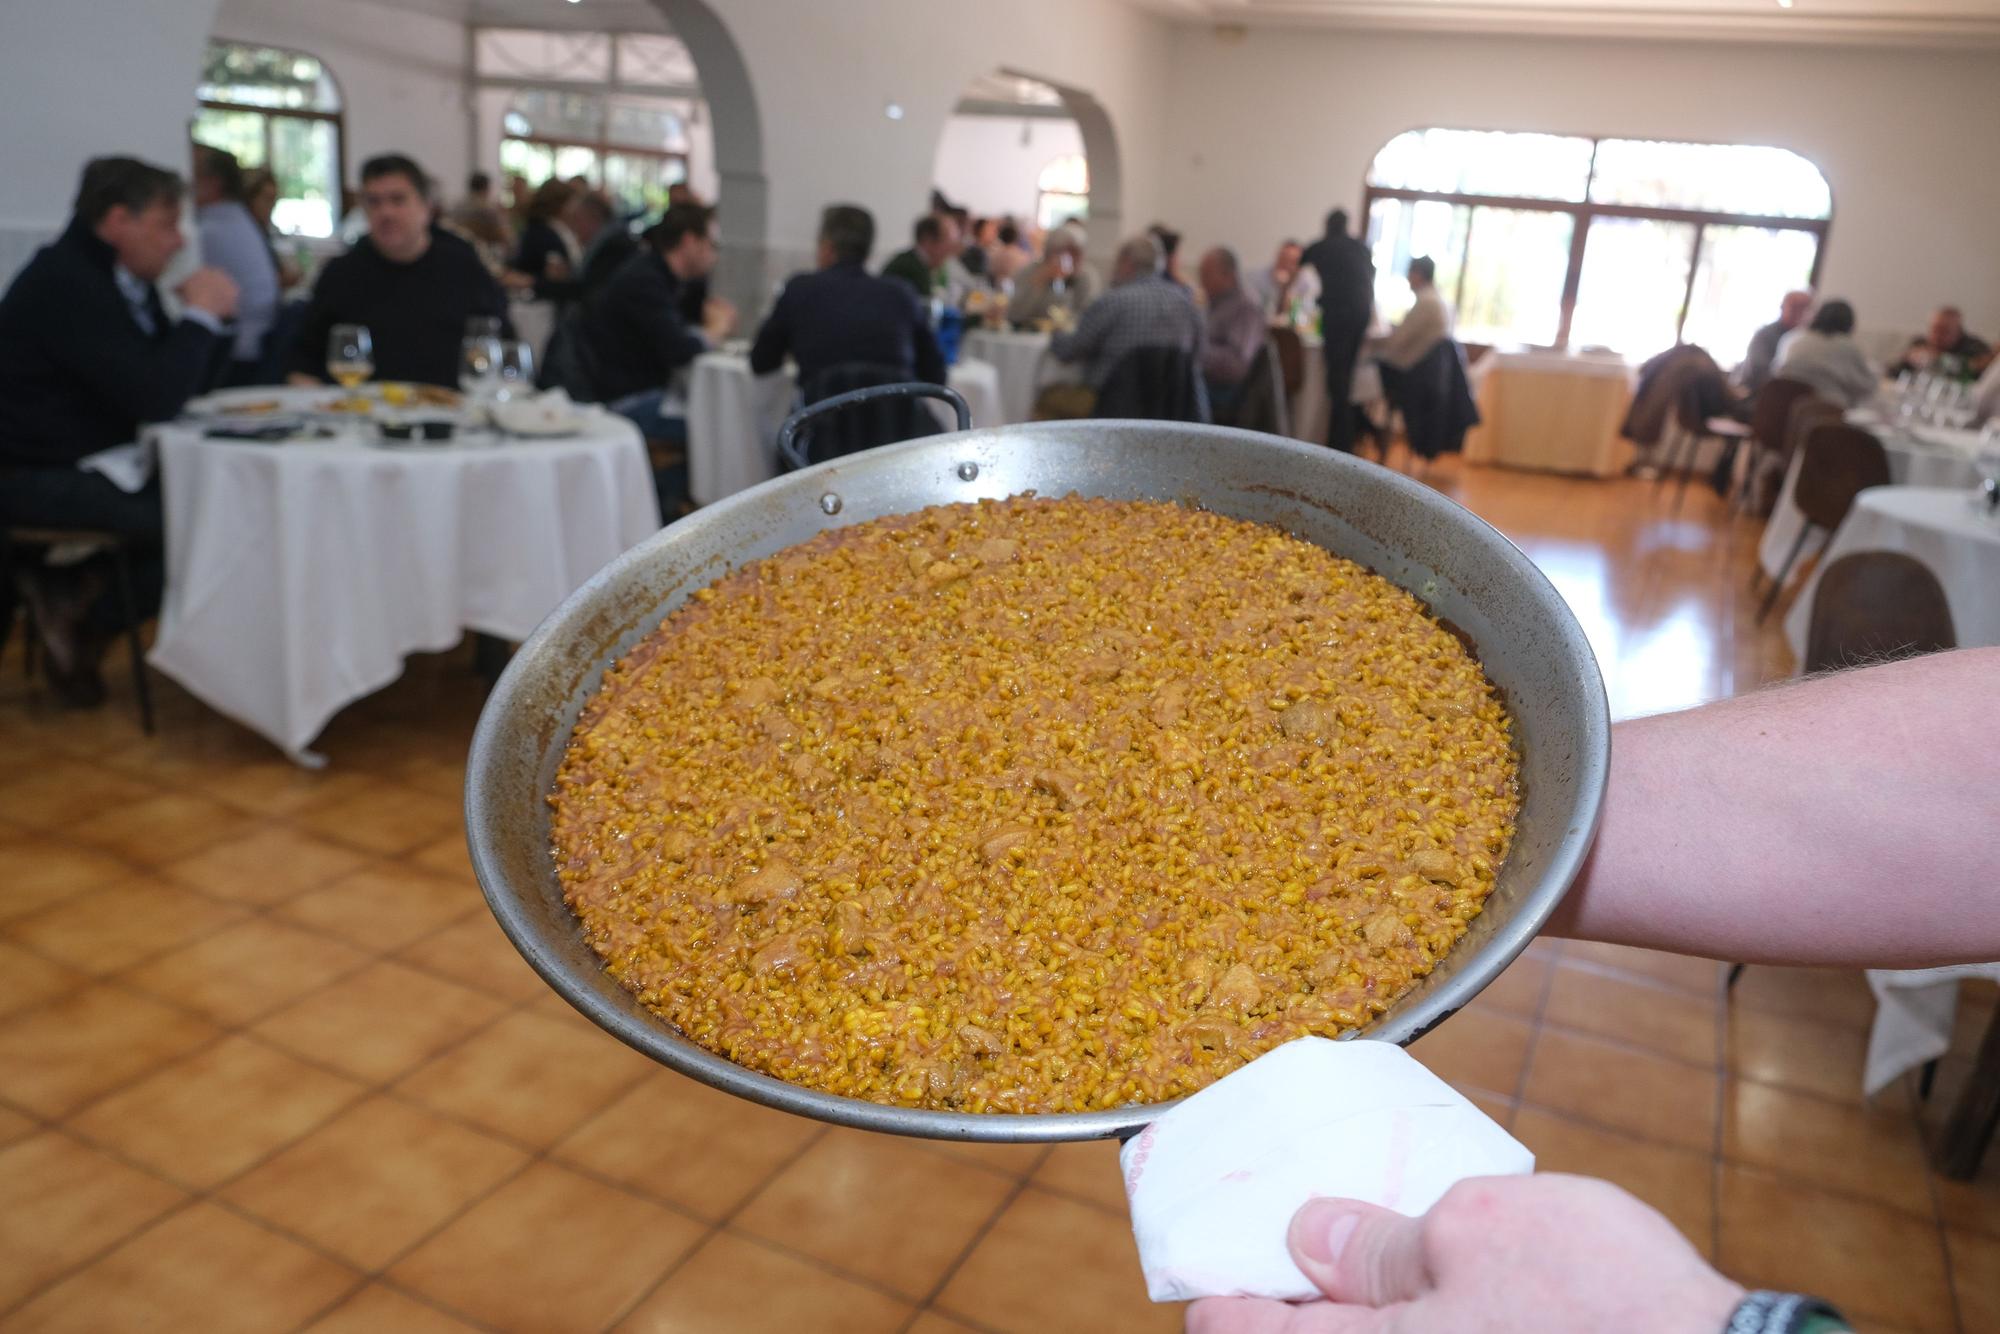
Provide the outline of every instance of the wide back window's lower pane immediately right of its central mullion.
[[1632,360],[1674,346],[1692,262],[1692,222],[1592,218],[1570,346],[1610,348]]

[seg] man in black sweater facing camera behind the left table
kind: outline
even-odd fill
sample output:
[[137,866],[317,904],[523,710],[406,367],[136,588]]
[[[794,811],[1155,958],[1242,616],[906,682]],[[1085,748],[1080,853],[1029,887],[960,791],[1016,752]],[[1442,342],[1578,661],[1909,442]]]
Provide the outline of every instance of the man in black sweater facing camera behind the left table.
[[368,236],[328,260],[292,348],[292,382],[320,384],[326,336],[336,324],[366,324],[376,380],[458,384],[466,320],[494,316],[512,338],[506,292],[478,252],[430,222],[430,180],[402,154],[362,162]]

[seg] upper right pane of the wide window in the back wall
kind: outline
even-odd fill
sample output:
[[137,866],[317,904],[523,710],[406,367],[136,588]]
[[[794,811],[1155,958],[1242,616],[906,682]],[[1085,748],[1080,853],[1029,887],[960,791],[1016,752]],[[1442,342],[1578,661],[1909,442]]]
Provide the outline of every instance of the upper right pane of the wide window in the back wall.
[[1598,144],[1590,198],[1766,218],[1826,218],[1834,204],[1820,168],[1786,148],[1632,138]]

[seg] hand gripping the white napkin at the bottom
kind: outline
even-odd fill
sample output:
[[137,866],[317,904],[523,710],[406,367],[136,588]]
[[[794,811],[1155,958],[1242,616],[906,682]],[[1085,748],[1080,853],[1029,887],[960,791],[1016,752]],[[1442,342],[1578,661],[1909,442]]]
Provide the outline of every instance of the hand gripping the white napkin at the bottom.
[[1716,1334],[1744,1296],[1658,1212],[1582,1176],[1460,1182],[1422,1218],[1312,1200],[1286,1242],[1326,1302],[1208,1298],[1188,1334]]

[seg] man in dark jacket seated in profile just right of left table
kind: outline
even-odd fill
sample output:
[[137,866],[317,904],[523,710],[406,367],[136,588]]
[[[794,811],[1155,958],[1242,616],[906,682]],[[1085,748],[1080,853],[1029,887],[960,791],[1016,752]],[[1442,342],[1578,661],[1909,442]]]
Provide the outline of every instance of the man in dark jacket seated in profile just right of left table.
[[648,440],[686,444],[688,406],[678,380],[696,356],[736,330],[736,308],[720,298],[708,298],[702,328],[688,328],[682,318],[686,288],[714,268],[714,214],[678,204],[646,232],[646,246],[584,302],[580,336],[592,388]]

